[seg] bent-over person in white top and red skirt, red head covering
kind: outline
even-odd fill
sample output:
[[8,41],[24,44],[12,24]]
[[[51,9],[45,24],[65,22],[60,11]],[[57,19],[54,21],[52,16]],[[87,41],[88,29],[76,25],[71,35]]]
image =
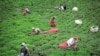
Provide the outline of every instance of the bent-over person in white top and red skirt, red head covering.
[[78,37],[73,37],[67,40],[66,42],[62,42],[59,44],[59,48],[75,48],[76,43],[78,42]]

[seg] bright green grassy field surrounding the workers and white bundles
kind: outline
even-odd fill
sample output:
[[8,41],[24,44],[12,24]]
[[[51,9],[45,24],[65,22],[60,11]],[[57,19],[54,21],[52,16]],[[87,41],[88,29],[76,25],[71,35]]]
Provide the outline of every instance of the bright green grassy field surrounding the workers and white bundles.
[[[66,3],[67,10],[54,9]],[[77,6],[78,12],[72,12]],[[25,42],[31,56],[100,56],[100,31],[91,33],[90,26],[100,27],[99,0],[0,0],[0,56],[17,56],[20,44]],[[31,14],[22,16],[22,9],[29,7]],[[27,36],[31,28],[50,28],[50,17],[56,17],[59,32]],[[74,24],[82,19],[82,25]],[[58,44],[72,36],[78,36],[77,50],[63,50]]]

